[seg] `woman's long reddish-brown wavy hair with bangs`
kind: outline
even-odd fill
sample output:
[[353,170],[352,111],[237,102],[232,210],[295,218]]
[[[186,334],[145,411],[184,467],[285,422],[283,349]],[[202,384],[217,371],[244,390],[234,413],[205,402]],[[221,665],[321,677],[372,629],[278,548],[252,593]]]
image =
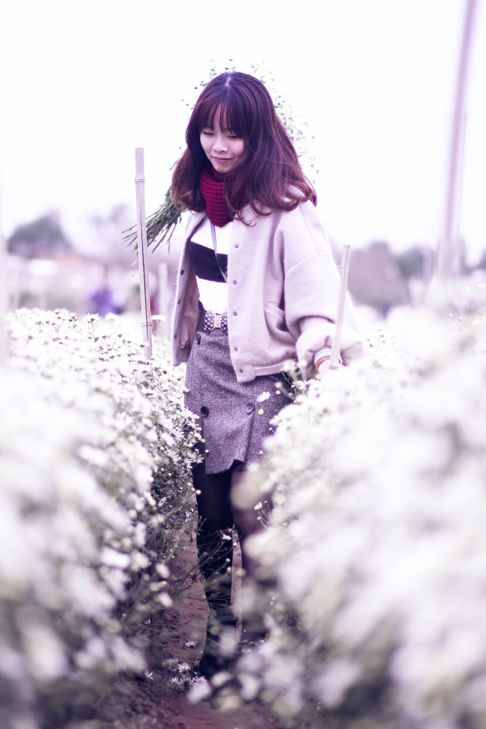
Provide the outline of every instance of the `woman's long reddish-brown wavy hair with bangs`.
[[317,205],[315,189],[302,172],[265,85],[250,74],[228,71],[204,87],[190,115],[185,132],[188,147],[171,181],[171,197],[178,209],[206,209],[199,174],[212,165],[201,146],[201,131],[214,128],[216,114],[221,130],[244,139],[241,157],[225,175],[224,194],[232,218],[245,222],[241,213],[247,203],[257,215],[270,214],[263,211],[264,206],[294,210],[303,200]]

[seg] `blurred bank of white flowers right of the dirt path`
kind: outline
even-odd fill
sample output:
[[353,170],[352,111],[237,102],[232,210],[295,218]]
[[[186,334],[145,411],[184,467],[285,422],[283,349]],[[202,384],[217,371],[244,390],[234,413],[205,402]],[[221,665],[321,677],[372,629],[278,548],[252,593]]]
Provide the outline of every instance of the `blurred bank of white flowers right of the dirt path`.
[[284,726],[484,729],[486,319],[396,309],[368,343],[279,413],[252,474],[278,589],[240,694]]

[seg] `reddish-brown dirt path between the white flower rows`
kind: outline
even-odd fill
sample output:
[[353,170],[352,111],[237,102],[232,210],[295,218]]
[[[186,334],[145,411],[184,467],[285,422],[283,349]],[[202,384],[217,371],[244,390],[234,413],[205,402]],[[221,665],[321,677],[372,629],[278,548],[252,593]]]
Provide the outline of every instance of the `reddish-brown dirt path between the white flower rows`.
[[[192,557],[196,559],[195,550]],[[241,553],[235,549],[234,569],[241,566]],[[232,604],[239,609],[239,577],[234,576]],[[206,637],[209,610],[201,584],[193,585],[188,596],[177,601],[164,616],[168,636],[163,638],[163,658],[177,658],[190,665],[198,663]],[[196,647],[186,647],[196,641]],[[175,674],[162,666],[152,666],[151,678],[123,679],[99,703],[103,729],[282,729],[261,701],[244,703],[232,711],[212,709],[209,701],[190,703],[180,689],[172,689],[169,679]]]

